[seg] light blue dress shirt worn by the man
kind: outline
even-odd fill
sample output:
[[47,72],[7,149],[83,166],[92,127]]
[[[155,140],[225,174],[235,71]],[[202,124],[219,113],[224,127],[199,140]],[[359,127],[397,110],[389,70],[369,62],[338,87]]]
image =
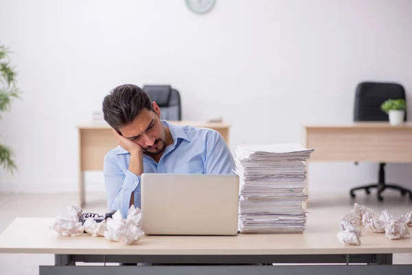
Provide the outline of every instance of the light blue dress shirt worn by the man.
[[[176,126],[166,120],[172,134],[159,163],[144,154],[144,173],[233,174],[233,156],[218,131],[193,126]],[[104,157],[104,183],[109,210],[120,210],[127,217],[130,196],[135,191],[135,206],[141,208],[140,176],[128,170],[130,153],[118,146]]]

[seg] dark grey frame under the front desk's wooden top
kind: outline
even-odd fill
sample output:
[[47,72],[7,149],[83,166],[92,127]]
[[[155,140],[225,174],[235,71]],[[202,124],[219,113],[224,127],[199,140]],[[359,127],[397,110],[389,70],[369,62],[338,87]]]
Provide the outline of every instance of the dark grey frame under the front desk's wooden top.
[[[40,266],[40,275],[387,275],[412,274],[412,265],[392,265],[392,254],[309,254],[309,255],[91,255],[58,254],[54,266]],[[100,266],[76,265],[103,263]],[[170,263],[152,266],[106,266],[106,263]],[[282,263],[286,265],[253,265]],[[337,265],[330,265],[330,264]],[[174,264],[174,265],[173,265]],[[196,264],[196,265],[192,265]],[[289,264],[289,265],[288,265]],[[293,265],[299,264],[299,265]],[[315,264],[315,265],[313,265]],[[329,265],[328,265],[329,264]]]

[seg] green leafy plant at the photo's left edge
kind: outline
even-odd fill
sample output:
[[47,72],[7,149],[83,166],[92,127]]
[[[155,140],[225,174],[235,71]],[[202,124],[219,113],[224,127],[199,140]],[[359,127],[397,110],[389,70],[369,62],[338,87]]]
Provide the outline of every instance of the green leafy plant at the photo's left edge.
[[[16,72],[10,64],[10,51],[5,45],[0,43],[0,112],[10,111],[12,100],[19,98],[21,91],[16,86]],[[1,118],[1,114],[0,114]],[[17,169],[12,150],[0,144],[0,166],[13,174]]]

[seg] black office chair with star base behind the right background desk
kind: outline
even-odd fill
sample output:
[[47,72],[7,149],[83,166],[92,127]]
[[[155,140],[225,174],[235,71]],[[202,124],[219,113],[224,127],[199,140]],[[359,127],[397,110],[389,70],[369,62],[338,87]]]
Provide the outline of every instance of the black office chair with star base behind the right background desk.
[[[374,83],[364,82],[356,87],[355,106],[354,106],[354,121],[389,121],[387,113],[380,109],[380,105],[385,100],[392,98],[402,98],[406,100],[404,87],[398,83]],[[404,120],[407,120],[405,111]],[[402,196],[409,193],[409,199],[412,199],[412,192],[407,188],[403,188],[396,184],[387,184],[385,181],[385,165],[382,162],[379,164],[378,183],[359,186],[350,190],[352,198],[355,197],[354,191],[365,189],[367,195],[370,194],[370,188],[377,188],[378,200],[382,201],[382,192],[387,189],[400,190]]]

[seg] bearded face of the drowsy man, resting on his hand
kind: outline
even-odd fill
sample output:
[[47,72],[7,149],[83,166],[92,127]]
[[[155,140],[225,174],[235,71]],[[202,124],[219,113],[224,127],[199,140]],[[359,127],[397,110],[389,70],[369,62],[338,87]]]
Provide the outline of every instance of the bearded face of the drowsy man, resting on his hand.
[[160,120],[160,109],[153,102],[153,109],[143,109],[132,123],[122,127],[122,135],[143,148],[147,155],[159,155],[165,151],[166,135]]

